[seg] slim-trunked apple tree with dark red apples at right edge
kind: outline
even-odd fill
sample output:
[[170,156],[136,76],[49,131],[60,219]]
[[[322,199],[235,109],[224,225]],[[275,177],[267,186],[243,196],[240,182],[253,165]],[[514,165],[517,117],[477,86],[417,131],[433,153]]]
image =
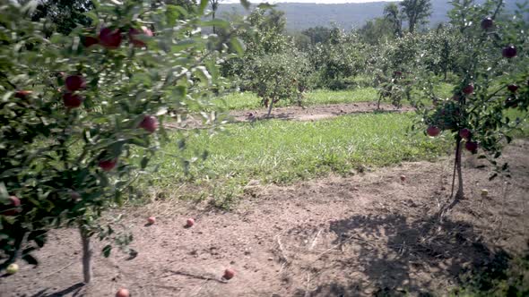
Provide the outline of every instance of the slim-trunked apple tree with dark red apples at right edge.
[[[459,83],[452,98],[441,99],[426,92],[434,106],[417,103],[421,124],[428,126],[429,136],[446,131],[455,140],[454,200],[448,208],[464,197],[463,150],[489,159],[495,166],[491,178],[506,172],[508,165],[498,161],[501,148],[525,121],[529,107],[529,24],[524,17],[529,10],[520,5],[516,13],[507,14],[502,0],[488,0],[481,5],[461,0],[453,4],[453,34],[463,47],[455,68]],[[455,176],[458,189],[454,196]]]

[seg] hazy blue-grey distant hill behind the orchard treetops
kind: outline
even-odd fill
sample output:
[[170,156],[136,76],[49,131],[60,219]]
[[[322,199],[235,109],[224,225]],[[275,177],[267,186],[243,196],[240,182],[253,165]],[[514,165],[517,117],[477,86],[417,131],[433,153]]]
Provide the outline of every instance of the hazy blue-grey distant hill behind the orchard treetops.
[[[507,9],[516,7],[515,0],[507,0]],[[310,27],[329,27],[336,23],[340,28],[349,30],[359,28],[366,21],[382,16],[384,6],[388,2],[351,3],[351,4],[298,4],[280,3],[276,9],[285,12],[288,30],[305,30]],[[432,1],[430,25],[447,21],[447,12],[452,5],[447,0]],[[236,11],[245,13],[239,4],[220,4],[219,15]]]

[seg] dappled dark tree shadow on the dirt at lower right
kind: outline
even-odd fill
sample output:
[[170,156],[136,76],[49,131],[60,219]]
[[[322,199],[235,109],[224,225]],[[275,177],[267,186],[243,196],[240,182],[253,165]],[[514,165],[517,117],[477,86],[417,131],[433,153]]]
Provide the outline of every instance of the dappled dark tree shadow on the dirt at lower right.
[[328,268],[360,271],[363,279],[351,275],[320,283],[311,292],[299,290],[296,296],[429,296],[436,291],[438,277],[460,285],[463,273],[501,274],[510,259],[505,250],[493,250],[482,242],[473,225],[449,219],[439,222],[437,216],[409,221],[402,215],[356,215],[330,222],[329,230],[338,250],[349,246],[354,252],[327,259],[335,263]]

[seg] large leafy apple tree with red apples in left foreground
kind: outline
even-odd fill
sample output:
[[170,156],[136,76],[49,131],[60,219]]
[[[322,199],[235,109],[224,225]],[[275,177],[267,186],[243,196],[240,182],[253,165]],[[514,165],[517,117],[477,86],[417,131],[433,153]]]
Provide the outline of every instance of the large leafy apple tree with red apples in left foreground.
[[90,27],[49,38],[47,21],[31,21],[36,2],[0,6],[0,270],[37,264],[48,231],[74,226],[90,282],[91,238],[108,241],[105,256],[132,240],[103,215],[134,198],[166,139],[167,110],[198,113],[218,76],[222,40],[200,30],[211,25],[207,0],[191,11],[92,3]]

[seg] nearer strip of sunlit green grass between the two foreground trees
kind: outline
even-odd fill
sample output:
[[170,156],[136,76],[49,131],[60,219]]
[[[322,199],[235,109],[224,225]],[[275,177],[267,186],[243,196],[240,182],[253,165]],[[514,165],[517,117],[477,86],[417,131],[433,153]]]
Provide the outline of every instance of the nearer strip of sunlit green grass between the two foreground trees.
[[413,115],[345,115],[319,122],[264,121],[228,124],[226,132],[198,133],[188,140],[184,157],[205,149],[209,157],[195,162],[188,175],[181,174],[181,154],[169,141],[154,186],[172,191],[186,183],[200,191],[196,198],[217,197],[230,205],[251,180],[291,183],[329,173],[351,174],[366,167],[403,161],[433,159],[446,153],[449,144],[422,133],[408,135]]

